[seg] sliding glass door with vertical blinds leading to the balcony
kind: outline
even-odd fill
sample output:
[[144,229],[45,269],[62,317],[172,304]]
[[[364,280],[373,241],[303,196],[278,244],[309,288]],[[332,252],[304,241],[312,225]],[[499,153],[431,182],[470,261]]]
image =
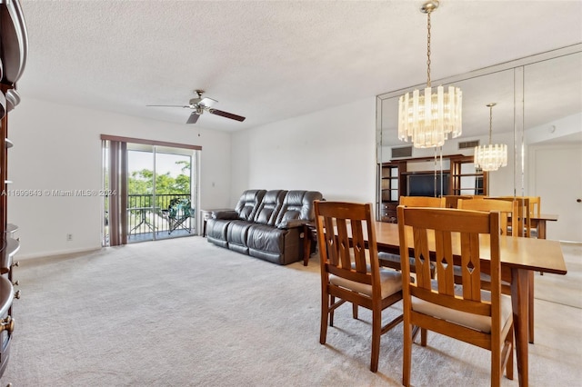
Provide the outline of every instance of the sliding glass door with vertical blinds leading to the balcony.
[[106,140],[103,244],[195,235],[200,148]]

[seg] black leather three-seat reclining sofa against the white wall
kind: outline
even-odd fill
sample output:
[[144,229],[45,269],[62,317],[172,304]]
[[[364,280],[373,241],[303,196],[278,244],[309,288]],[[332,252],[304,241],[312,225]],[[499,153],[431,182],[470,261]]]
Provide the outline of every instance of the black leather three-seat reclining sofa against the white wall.
[[294,263],[303,259],[303,225],[314,221],[313,202],[322,198],[316,191],[245,191],[235,210],[212,214],[206,238],[272,263]]

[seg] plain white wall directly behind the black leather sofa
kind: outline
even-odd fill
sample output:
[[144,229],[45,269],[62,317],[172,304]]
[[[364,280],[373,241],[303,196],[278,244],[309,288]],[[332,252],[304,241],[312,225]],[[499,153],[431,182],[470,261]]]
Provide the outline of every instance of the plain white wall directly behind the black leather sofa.
[[376,98],[233,134],[232,201],[246,189],[376,202]]

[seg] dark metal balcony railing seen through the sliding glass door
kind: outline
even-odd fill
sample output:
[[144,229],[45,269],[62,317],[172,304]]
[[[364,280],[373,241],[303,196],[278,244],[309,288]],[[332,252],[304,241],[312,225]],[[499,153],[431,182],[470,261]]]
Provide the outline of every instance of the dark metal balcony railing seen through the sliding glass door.
[[189,216],[182,219],[180,227],[176,227],[176,220],[172,219],[167,211],[170,203],[173,203],[172,201],[175,199],[180,201],[189,198],[190,195],[187,193],[156,194],[156,199],[152,194],[127,195],[127,236],[129,240],[145,239],[148,233],[165,238],[172,236],[172,234],[191,233],[195,223],[194,209],[189,213]]

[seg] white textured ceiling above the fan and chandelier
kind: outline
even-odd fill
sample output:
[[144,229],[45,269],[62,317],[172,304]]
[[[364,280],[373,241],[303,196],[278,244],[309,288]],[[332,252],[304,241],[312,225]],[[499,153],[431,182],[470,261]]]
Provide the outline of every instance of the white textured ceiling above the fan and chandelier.
[[[19,93],[183,124],[194,89],[236,131],[426,81],[422,1],[22,1]],[[443,0],[433,79],[582,42],[582,2]],[[346,111],[346,114],[349,112]]]

